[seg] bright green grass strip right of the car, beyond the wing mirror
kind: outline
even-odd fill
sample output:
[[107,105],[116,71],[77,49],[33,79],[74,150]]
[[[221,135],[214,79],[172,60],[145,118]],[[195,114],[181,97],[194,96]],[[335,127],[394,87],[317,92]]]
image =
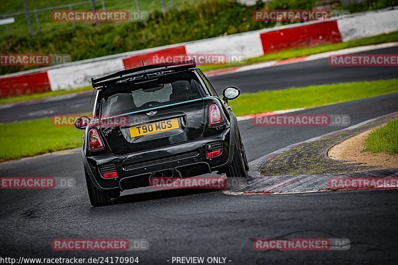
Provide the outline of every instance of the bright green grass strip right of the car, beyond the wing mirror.
[[[261,89],[261,88],[260,88]],[[309,108],[398,92],[398,79],[316,85],[242,94],[229,101],[236,116]]]

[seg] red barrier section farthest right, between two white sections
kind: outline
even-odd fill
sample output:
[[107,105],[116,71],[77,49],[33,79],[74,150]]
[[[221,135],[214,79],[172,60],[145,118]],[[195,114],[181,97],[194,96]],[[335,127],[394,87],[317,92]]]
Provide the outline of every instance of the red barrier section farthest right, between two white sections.
[[264,54],[341,42],[337,21],[324,21],[260,34]]

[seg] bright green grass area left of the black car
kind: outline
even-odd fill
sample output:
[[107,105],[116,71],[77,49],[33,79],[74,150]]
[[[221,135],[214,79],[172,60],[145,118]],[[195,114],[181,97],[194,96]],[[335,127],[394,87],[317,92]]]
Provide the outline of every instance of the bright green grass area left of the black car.
[[53,126],[51,118],[0,124],[0,161],[79,147],[83,133],[74,126]]

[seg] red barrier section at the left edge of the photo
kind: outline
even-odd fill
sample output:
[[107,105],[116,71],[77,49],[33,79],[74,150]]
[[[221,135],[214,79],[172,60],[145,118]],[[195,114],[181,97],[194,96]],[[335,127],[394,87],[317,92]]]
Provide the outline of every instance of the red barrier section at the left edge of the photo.
[[51,91],[46,71],[0,78],[0,97],[30,95]]

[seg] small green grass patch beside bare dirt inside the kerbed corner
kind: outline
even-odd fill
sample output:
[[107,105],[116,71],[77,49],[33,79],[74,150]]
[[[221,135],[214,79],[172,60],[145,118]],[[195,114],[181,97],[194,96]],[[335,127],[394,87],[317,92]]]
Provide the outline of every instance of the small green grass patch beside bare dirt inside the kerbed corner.
[[398,119],[370,133],[365,146],[366,152],[398,154]]

